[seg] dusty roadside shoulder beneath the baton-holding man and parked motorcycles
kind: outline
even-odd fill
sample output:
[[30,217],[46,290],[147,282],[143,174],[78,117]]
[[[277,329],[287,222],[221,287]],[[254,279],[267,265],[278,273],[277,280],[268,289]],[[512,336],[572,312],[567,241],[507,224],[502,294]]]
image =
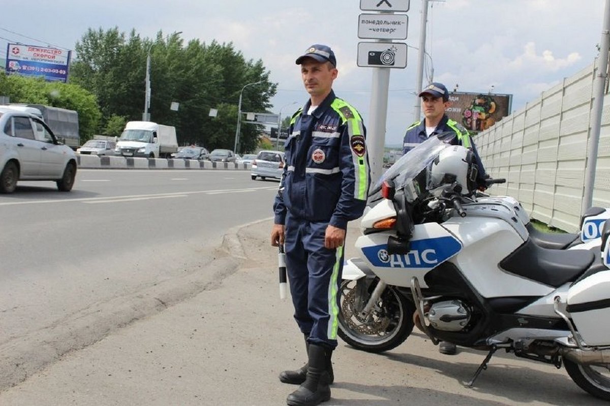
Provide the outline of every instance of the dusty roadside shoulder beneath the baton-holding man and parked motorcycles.
[[[242,258],[239,270],[0,390],[0,404],[285,405],[296,387],[280,383],[278,374],[301,366],[305,351],[290,299],[278,298],[270,228],[267,220],[234,230],[242,247],[233,250]],[[348,234],[353,242],[354,233]],[[475,386],[465,388],[462,382],[484,356],[464,348],[458,355],[439,354],[417,330],[384,354],[356,351],[339,341],[332,358],[332,398],[323,405],[607,404],[580,390],[564,369],[501,351]]]

